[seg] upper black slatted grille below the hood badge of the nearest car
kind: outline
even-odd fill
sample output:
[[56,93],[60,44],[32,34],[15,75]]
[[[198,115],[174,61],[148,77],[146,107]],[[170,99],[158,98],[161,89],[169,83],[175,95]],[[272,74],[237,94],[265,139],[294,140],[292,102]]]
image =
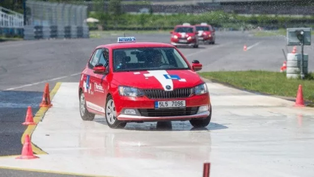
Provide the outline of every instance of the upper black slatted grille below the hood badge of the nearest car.
[[144,89],[144,94],[148,98],[187,98],[189,97],[193,89],[175,89],[172,91],[164,91],[162,89]]

